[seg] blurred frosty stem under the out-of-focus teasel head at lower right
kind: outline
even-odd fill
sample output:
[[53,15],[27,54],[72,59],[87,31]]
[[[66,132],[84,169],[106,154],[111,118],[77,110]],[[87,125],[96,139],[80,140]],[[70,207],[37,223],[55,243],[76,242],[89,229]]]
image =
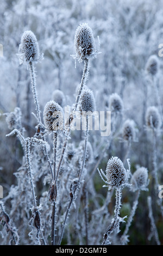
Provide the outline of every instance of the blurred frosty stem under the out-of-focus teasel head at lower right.
[[[134,217],[134,215],[135,215],[135,211],[136,211],[136,208],[137,208],[139,196],[140,196],[140,190],[137,190],[137,192],[136,192],[136,197],[135,197],[135,200],[134,200],[134,203],[133,203],[133,207],[132,207],[132,209],[131,209],[130,216],[129,216],[129,218],[128,218],[128,222],[127,222],[127,224],[126,224],[126,228],[125,228],[125,230],[124,230],[124,232],[123,232],[123,235],[122,235],[122,237],[121,237],[122,243],[123,243],[124,237],[128,234],[129,227],[130,227],[130,225],[131,225],[131,222],[133,221],[133,217]],[[124,241],[124,242],[125,242],[125,241]]]

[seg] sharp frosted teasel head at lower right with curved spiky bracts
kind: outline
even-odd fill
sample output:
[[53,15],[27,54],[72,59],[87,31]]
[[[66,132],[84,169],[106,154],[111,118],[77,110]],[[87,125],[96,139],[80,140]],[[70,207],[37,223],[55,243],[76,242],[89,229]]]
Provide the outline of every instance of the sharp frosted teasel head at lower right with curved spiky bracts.
[[127,170],[122,161],[117,157],[111,157],[106,166],[106,178],[111,187],[120,187],[127,181]]

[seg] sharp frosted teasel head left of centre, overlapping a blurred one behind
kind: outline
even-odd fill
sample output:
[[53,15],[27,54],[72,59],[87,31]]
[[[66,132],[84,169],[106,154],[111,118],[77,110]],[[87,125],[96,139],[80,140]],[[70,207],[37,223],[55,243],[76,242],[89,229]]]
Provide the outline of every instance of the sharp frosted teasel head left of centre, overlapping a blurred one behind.
[[47,102],[43,110],[43,121],[49,131],[63,130],[64,112],[62,107],[53,100]]

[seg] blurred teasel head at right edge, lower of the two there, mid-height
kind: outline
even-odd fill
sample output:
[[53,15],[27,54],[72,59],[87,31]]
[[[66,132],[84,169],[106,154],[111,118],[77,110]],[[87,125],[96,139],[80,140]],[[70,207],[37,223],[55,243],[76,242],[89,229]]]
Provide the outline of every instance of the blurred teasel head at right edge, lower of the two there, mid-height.
[[147,108],[146,124],[151,129],[159,129],[161,126],[161,118],[158,109],[155,106]]

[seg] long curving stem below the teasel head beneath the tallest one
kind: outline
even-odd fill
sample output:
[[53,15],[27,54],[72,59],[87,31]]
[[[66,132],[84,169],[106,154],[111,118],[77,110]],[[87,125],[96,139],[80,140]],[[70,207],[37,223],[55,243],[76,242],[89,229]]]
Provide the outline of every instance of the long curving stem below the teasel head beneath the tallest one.
[[[83,169],[84,169],[84,167],[85,167],[86,148],[87,148],[87,137],[88,137],[88,116],[86,115],[85,148],[84,148],[84,154],[83,154],[82,168],[81,168],[81,170],[80,170],[80,174],[79,174],[79,177],[78,177],[78,184],[79,184],[79,181],[80,181],[80,179],[81,179],[81,177],[82,177]],[[78,186],[76,186],[76,187],[74,188],[73,194],[75,194],[75,192],[76,192],[76,190],[77,190],[77,187],[78,187]],[[62,224],[62,230],[61,230],[60,238],[59,238],[59,241],[58,241],[58,245],[60,245],[61,240],[62,240],[62,236],[63,236],[63,234],[64,234],[65,224],[66,224],[68,212],[70,211],[71,204],[72,204],[72,202],[73,202],[73,198],[74,198],[74,196],[71,197],[70,203],[69,203],[69,205],[68,205],[68,207],[67,207],[67,211],[66,211],[66,215],[65,215],[65,220],[64,220],[64,223]]]

